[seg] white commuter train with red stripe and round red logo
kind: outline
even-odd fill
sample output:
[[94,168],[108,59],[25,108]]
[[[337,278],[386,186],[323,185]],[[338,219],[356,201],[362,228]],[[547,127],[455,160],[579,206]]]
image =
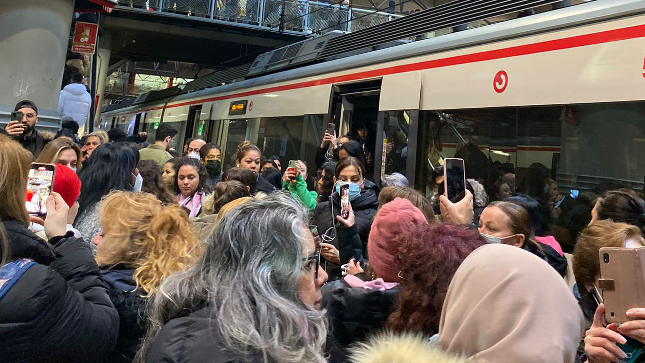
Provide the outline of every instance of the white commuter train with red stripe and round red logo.
[[[276,55],[259,56],[251,70],[268,56]],[[473,146],[519,173],[542,163],[561,189],[607,180],[643,187],[642,1],[597,0],[335,58],[112,105],[101,128],[154,134],[170,122],[180,130],[176,149],[190,137],[217,143],[224,167],[250,140],[267,157],[313,169],[328,123],[339,136],[365,125],[377,182],[397,171],[424,189],[440,157]]]

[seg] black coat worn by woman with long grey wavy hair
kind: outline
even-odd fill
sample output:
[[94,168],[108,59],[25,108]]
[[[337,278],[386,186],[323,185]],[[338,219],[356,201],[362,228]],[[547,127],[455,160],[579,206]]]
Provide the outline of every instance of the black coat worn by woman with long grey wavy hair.
[[[146,362],[263,362],[260,351],[250,352],[251,359],[244,360],[224,345],[217,321],[211,318],[212,309],[195,311],[188,316],[167,322],[148,349]],[[328,362],[344,362],[344,351],[327,340]]]

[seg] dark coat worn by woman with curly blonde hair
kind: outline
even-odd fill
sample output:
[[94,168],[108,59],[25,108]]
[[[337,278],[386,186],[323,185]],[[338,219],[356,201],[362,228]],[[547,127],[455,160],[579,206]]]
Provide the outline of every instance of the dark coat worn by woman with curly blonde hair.
[[103,269],[108,283],[110,300],[119,312],[119,338],[108,362],[132,362],[146,334],[146,298],[143,289],[137,289],[132,275],[134,270],[123,265]]

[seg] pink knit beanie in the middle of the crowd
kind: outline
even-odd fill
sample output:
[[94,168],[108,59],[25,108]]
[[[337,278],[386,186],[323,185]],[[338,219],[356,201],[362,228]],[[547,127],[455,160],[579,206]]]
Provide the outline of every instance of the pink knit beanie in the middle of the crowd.
[[397,250],[406,233],[427,225],[426,217],[409,200],[395,198],[384,204],[374,217],[367,253],[375,273],[386,282],[398,282]]

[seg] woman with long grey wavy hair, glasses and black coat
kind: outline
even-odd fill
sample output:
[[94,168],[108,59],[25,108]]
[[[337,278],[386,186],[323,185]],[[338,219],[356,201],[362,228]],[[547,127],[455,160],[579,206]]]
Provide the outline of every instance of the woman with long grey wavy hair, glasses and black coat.
[[283,192],[230,211],[148,305],[138,362],[325,362],[320,251]]

